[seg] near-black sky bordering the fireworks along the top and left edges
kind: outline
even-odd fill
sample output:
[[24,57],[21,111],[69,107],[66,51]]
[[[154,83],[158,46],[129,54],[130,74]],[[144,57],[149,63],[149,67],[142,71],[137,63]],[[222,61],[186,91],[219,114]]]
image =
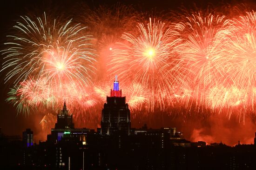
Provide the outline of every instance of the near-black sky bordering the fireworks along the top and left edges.
[[[80,3],[86,3],[90,7],[97,7],[100,4],[112,5],[117,0],[1,0],[0,2],[0,49],[2,50],[3,43],[6,42],[6,35],[11,32],[12,26],[15,24],[15,20],[19,19],[20,15],[41,15],[43,12],[58,11],[60,15],[73,18],[79,15],[79,11],[75,11],[76,7]],[[139,11],[149,11],[154,9],[155,11],[167,11],[169,9],[179,10],[179,7],[193,8],[197,7],[205,8],[209,4],[214,6],[222,3],[236,4],[240,0],[123,0],[122,4],[131,5]],[[55,13],[55,15],[58,15]],[[2,57],[1,57],[2,58]],[[0,61],[2,63],[2,61]],[[7,104],[5,99],[7,98],[7,92],[11,85],[4,84],[3,74],[0,73],[0,127],[2,132],[7,135],[21,135],[21,132],[26,128],[31,128],[35,132],[40,131],[38,121],[40,117],[38,115],[17,115],[15,108],[11,104]]]

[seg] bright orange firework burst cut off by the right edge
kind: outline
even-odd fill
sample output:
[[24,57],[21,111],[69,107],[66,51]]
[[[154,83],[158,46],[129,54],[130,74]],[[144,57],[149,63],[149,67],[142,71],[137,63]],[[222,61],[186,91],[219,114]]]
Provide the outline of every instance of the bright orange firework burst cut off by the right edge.
[[225,37],[225,50],[228,61],[225,71],[233,82],[246,89],[256,85],[256,13],[247,13],[246,16],[234,20],[229,34]]

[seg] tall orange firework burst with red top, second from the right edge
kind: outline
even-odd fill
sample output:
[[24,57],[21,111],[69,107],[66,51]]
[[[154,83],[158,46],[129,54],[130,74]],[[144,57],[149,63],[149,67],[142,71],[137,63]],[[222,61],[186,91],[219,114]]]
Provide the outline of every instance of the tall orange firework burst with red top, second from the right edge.
[[225,16],[212,14],[205,17],[201,13],[193,14],[187,20],[186,23],[177,24],[182,36],[181,48],[177,53],[183,63],[181,67],[187,69],[188,84],[193,88],[196,103],[203,107],[203,93],[222,81],[222,60],[217,60],[222,57],[218,32],[228,24]]

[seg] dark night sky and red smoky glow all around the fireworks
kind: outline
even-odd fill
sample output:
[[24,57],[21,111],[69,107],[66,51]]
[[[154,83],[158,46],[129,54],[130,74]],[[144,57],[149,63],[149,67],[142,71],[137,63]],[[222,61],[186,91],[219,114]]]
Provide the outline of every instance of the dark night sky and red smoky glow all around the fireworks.
[[[107,2],[107,4],[106,4]],[[116,0],[5,0],[0,5],[0,49],[4,49],[3,44],[7,41],[6,35],[12,32],[12,26],[20,16],[32,15],[41,16],[43,12],[50,13],[54,16],[61,16],[67,20],[74,19],[79,16],[79,7],[81,3],[87,4],[89,7],[98,7],[99,5],[109,6],[117,3]],[[239,1],[240,2],[240,1]],[[246,1],[248,4],[251,2]],[[138,11],[155,11],[168,12],[170,10],[180,11],[181,7],[187,9],[206,8],[207,6],[221,6],[229,3],[235,5],[238,3],[234,0],[124,0],[121,1],[125,5],[134,5]],[[1,59],[3,56],[1,57]],[[2,63],[2,60],[1,60]],[[42,132],[39,122],[43,115],[32,113],[29,116],[17,114],[13,105],[5,102],[7,92],[11,87],[10,84],[4,84],[4,75],[0,73],[0,127],[6,135],[21,135],[26,128],[34,131],[36,142],[45,140],[46,134]],[[120,83],[120,87],[122,84]],[[103,107],[103,105],[102,105]],[[187,119],[184,120],[184,117]],[[200,117],[200,118],[199,118]],[[202,118],[203,117],[203,118]],[[184,136],[188,140],[208,140],[211,142],[224,142],[229,145],[236,144],[240,140],[241,143],[252,143],[256,124],[253,118],[247,118],[246,122],[239,122],[236,115],[229,119],[226,115],[202,116],[202,115],[177,115],[175,117],[166,115],[165,113],[151,113],[143,118],[135,118],[132,120],[132,127],[141,127],[147,123],[148,127],[160,128],[163,126],[177,127],[177,131],[183,131]],[[100,122],[98,123],[100,124]],[[98,124],[90,124],[83,126],[95,128]],[[76,125],[78,127],[78,125]]]

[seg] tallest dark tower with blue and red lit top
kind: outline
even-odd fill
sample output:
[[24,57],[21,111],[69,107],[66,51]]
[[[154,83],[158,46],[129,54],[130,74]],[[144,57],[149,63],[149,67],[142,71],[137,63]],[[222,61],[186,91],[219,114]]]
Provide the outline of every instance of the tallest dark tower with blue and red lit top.
[[107,96],[107,102],[102,109],[101,135],[112,135],[117,131],[130,134],[131,121],[130,110],[125,97],[122,97],[122,90],[119,90],[119,82],[115,76],[114,88]]

